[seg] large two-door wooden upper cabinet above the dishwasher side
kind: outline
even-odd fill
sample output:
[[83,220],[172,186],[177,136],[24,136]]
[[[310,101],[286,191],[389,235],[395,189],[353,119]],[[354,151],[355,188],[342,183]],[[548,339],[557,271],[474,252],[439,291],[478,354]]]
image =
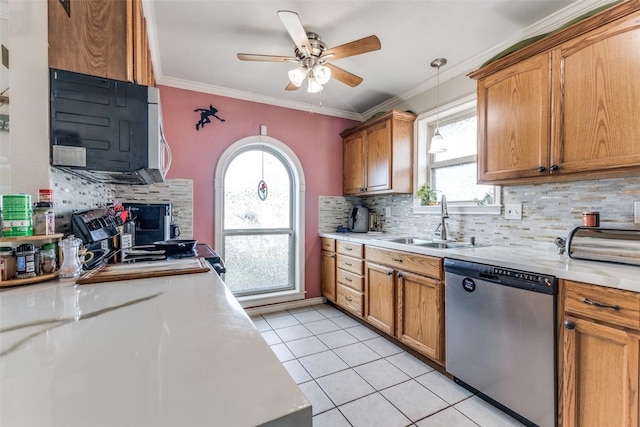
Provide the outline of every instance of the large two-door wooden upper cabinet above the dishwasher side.
[[622,2],[469,76],[478,182],[640,172],[640,11]]

